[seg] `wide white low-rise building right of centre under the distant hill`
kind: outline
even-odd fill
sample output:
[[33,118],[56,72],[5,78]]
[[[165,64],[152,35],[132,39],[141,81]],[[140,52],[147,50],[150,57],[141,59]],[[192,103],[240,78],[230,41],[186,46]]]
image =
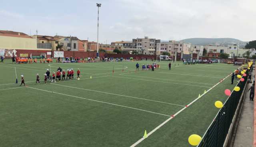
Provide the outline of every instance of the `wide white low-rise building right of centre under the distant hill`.
[[221,53],[229,53],[229,47],[223,45],[206,45],[204,48],[207,51],[208,57],[219,57]]

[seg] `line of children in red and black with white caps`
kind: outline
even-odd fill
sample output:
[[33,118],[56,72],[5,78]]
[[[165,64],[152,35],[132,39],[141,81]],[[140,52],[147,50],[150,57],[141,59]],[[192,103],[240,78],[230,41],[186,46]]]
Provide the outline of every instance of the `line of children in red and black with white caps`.
[[[80,73],[81,73],[80,69],[77,69],[76,73],[77,73],[76,79],[80,80]],[[44,74],[44,83],[45,84],[47,83],[47,80],[50,80],[51,82],[56,82],[57,80],[59,80],[59,82],[60,82],[61,80],[68,80],[68,79],[71,79],[71,80],[74,79],[74,70],[73,69],[67,70],[67,76],[66,76],[65,70],[62,71],[62,69],[60,69],[60,67],[58,68],[58,71],[56,73],[52,72],[52,75],[50,75],[49,69],[47,69],[46,73]],[[39,76],[39,74],[36,74],[36,84],[39,84],[39,83],[40,83],[40,76]],[[24,84],[24,86],[25,86],[25,80],[24,80],[23,75],[21,75],[20,86],[22,86],[22,84]]]

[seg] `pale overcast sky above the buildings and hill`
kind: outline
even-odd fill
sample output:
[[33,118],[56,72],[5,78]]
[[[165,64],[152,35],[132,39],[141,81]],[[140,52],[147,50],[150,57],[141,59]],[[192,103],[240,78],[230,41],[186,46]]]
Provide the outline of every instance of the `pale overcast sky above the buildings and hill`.
[[256,0],[3,0],[0,30],[72,35],[99,42],[148,36],[256,39]]

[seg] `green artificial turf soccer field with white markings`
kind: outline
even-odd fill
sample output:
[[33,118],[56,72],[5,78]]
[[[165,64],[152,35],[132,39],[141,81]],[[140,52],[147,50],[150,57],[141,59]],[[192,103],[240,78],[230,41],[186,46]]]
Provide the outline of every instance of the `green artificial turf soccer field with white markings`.
[[[236,85],[229,74],[238,68],[177,62],[169,71],[168,62],[161,61],[152,72],[141,71],[152,62],[138,61],[135,72],[137,61],[10,62],[0,64],[2,147],[190,147],[188,137],[204,135],[218,112],[214,102],[224,103],[224,90]],[[15,84],[14,67],[26,86]],[[79,68],[80,80],[44,84],[46,69],[58,67],[74,69],[75,75]],[[37,73],[40,84],[35,84]]]

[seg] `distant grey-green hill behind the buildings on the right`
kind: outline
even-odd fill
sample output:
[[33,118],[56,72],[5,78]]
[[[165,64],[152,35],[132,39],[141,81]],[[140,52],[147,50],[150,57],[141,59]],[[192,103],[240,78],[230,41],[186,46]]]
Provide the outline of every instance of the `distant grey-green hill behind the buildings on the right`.
[[246,45],[246,41],[241,41],[234,38],[189,38],[180,40],[185,43],[191,43],[193,45],[233,45],[238,44],[240,47]]

